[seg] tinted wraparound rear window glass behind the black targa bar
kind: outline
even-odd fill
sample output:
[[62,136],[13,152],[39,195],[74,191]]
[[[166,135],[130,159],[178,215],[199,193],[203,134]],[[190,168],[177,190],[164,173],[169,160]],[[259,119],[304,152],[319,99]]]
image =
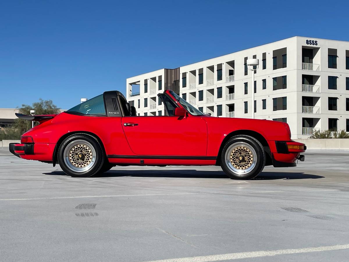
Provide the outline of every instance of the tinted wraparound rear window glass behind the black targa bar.
[[67,112],[80,114],[80,115],[101,115],[105,116],[105,106],[103,94],[91,98],[81,104],[75,105],[75,107],[70,108]]

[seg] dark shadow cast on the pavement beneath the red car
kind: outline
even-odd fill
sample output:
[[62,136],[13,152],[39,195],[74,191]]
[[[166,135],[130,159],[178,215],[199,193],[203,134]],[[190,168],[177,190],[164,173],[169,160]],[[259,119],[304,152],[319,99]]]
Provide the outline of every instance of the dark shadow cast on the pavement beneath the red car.
[[[53,171],[50,173],[43,173],[45,175],[63,175],[62,171]],[[229,179],[223,171],[201,171],[195,169],[178,169],[178,170],[114,170],[97,174],[94,177],[188,177],[188,178],[224,178]],[[319,179],[324,176],[305,174],[303,172],[262,172],[253,180],[277,180],[277,179]]]

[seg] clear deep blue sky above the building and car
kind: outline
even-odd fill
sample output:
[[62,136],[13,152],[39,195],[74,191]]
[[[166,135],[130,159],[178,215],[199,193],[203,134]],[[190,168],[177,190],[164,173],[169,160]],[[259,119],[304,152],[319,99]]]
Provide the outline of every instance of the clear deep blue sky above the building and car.
[[127,77],[296,35],[349,41],[348,10],[348,1],[2,0],[0,108],[42,98],[68,109],[125,94]]

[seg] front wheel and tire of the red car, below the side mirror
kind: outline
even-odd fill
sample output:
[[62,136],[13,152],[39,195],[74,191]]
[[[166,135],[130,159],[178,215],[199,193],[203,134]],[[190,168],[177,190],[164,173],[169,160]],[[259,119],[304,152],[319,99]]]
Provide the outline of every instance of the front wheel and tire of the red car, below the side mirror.
[[221,154],[221,167],[231,179],[253,179],[262,172],[265,162],[263,146],[251,136],[239,135],[230,138]]

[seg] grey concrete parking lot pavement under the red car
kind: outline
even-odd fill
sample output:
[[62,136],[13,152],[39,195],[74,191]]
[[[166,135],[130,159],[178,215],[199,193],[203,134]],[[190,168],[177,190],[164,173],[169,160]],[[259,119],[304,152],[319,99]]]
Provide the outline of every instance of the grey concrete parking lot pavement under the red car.
[[0,261],[348,261],[349,152],[305,155],[249,181],[194,166],[72,178],[0,149]]

